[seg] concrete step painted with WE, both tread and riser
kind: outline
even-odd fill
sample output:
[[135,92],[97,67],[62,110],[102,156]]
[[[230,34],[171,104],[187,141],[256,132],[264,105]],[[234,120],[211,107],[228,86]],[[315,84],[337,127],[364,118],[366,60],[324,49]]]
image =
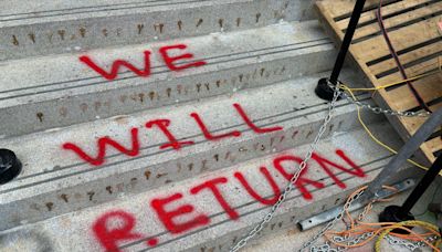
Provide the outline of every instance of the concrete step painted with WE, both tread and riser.
[[[177,44],[187,49],[165,48]],[[160,48],[171,56],[194,56],[168,61],[168,65]],[[145,70],[149,60],[146,50],[151,52],[147,62],[151,70]],[[306,21],[8,61],[0,65],[0,134],[23,135],[281,82],[327,71],[334,55],[333,44],[318,23]],[[117,59],[139,67],[138,73],[123,66],[109,76],[90,66],[95,64],[109,73],[113,65],[122,64]]]

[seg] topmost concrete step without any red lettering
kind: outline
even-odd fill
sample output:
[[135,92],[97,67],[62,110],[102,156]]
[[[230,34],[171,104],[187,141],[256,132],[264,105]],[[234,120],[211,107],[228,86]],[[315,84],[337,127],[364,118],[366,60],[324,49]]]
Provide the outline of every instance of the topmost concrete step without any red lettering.
[[309,19],[303,0],[78,0],[0,3],[0,61],[238,31]]

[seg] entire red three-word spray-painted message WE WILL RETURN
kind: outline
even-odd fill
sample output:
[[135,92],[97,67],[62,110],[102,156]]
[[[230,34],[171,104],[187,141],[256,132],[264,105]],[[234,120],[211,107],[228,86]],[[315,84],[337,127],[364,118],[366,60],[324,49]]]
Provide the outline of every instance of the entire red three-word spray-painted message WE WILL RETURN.
[[[204,61],[193,60],[193,54],[191,53],[182,53],[177,55],[178,52],[182,52],[183,50],[187,50],[187,45],[175,44],[160,48],[158,53],[170,71],[183,71],[190,67],[199,67],[207,64]],[[113,62],[109,71],[98,66],[87,55],[81,56],[80,61],[102,75],[104,78],[112,81],[117,78],[118,72],[122,67],[126,67],[139,77],[150,76],[150,51],[144,51],[144,67],[138,69],[127,61],[116,60]],[[182,60],[188,60],[191,62],[180,62]],[[280,126],[259,127],[253,123],[253,119],[249,117],[240,104],[233,104],[233,108],[236,111],[244,124],[255,134],[267,134],[283,130],[283,128]],[[224,134],[213,134],[210,132],[210,127],[204,124],[203,118],[201,118],[198,113],[191,113],[190,117],[194,119],[196,126],[198,126],[207,140],[218,141],[224,138],[241,137],[242,135],[240,130],[231,130]],[[159,147],[160,149],[171,148],[178,151],[186,146],[194,144],[193,140],[178,140],[175,133],[170,130],[171,124],[172,122],[168,118],[156,118],[147,122],[145,127],[162,134],[167,141]],[[128,157],[138,156],[140,151],[138,134],[139,128],[130,129],[130,146],[124,146],[108,136],[98,138],[96,143],[97,153],[95,157],[91,154],[87,154],[83,148],[73,143],[65,143],[62,147],[63,149],[73,151],[82,160],[93,166],[101,166],[106,162],[106,151],[109,147],[115,148]],[[356,177],[366,176],[364,170],[359,168],[343,150],[338,149],[336,150],[336,154],[346,162],[347,166],[349,166],[349,168],[347,168],[345,165],[339,165],[335,161],[332,161],[318,154],[314,154],[312,156],[312,162],[315,162],[317,167],[324,170],[324,172],[340,188],[346,188],[346,185],[336,176],[333,169],[340,170]],[[272,171],[281,174],[285,180],[290,181],[295,170],[294,168],[302,162],[302,158],[294,155],[284,155],[274,158],[272,161],[274,168]],[[326,186],[323,181],[316,181],[307,178],[308,168],[309,167],[307,166],[294,186],[299,190],[301,196],[305,200],[313,200],[313,192],[311,191],[312,188],[323,189]],[[272,176],[272,172],[267,167],[259,167],[259,172],[260,176],[265,178],[264,181],[267,182],[269,189],[272,191],[271,197],[264,197],[263,195],[260,195],[259,191],[261,191],[261,189],[256,190],[256,188],[253,188],[246,176],[240,171],[235,171],[233,172],[231,179],[228,177],[217,177],[194,185],[188,189],[187,196],[181,192],[171,192],[169,196],[154,197],[150,199],[150,210],[169,233],[175,235],[181,234],[210,224],[211,213],[201,212],[197,209],[196,203],[185,203],[186,199],[188,198],[190,199],[188,202],[198,202],[198,197],[202,197],[202,195],[207,196],[209,193],[213,198],[213,202],[218,203],[219,208],[221,208],[232,221],[239,220],[241,214],[238,209],[235,209],[235,207],[229,202],[228,195],[222,190],[222,187],[240,185],[245,197],[249,197],[263,206],[274,204],[282,193],[281,188],[284,185],[277,183],[277,180],[274,176]],[[185,220],[181,219],[182,217]],[[117,221],[118,224],[109,224],[112,221]],[[124,242],[134,240],[143,240],[148,246],[158,245],[158,238],[137,232],[136,229],[137,218],[126,210],[113,210],[106,212],[99,216],[92,225],[92,231],[95,238],[106,251],[120,251],[119,245],[122,245]]]

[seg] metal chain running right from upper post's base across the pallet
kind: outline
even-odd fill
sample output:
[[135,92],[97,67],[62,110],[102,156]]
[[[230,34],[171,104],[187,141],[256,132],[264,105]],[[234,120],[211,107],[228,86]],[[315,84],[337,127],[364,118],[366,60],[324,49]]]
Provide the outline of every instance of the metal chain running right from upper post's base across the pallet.
[[[338,88],[332,82],[328,82],[328,86],[333,90]],[[362,102],[359,102],[359,101],[352,98],[350,95],[348,95],[345,92],[341,92],[341,96],[344,98],[346,98],[349,103],[355,104],[360,108],[371,111],[375,114],[385,114],[385,115],[390,115],[390,116],[402,116],[402,117],[415,117],[415,116],[428,117],[431,115],[430,112],[399,112],[399,111],[392,111],[392,109],[387,109],[387,108],[382,108],[382,107],[371,106],[368,103],[362,103]]]

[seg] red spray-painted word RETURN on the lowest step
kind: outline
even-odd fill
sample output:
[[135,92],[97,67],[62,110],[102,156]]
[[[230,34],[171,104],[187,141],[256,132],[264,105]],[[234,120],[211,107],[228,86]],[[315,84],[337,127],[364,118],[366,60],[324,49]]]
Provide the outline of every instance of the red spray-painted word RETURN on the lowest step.
[[[327,177],[330,178],[339,188],[346,188],[345,182],[336,176],[333,169],[344,171],[345,174],[349,174],[359,178],[366,177],[364,170],[358,167],[343,150],[337,149],[336,155],[344,160],[349,168],[332,161],[319,154],[314,154],[312,156],[314,164],[309,162],[299,176],[298,180],[294,183],[305,200],[313,199],[311,192],[312,187],[317,189],[326,188],[324,180]],[[251,198],[254,202],[259,202],[263,206],[272,206],[280,198],[282,193],[281,188],[285,186],[278,185],[272,174],[281,174],[286,181],[290,181],[302,160],[303,159],[298,156],[284,155],[272,160],[273,170],[270,170],[264,166],[253,170],[253,172],[257,172],[257,170],[261,172],[261,175],[264,177],[262,181],[265,181],[269,187],[265,187],[264,182],[259,182],[259,189],[256,190],[252,187],[252,183],[246,179],[243,172],[235,171],[230,179],[227,177],[215,177],[190,187],[187,190],[188,196],[185,196],[181,192],[170,192],[170,195],[166,197],[154,196],[149,201],[150,210],[154,212],[155,217],[158,218],[164,228],[171,234],[180,234],[207,227],[211,222],[210,216],[217,214],[218,212],[204,213],[197,209],[197,206],[199,204],[198,195],[204,191],[206,193],[209,192],[213,197],[213,206],[219,204],[227,213],[229,219],[235,221],[239,220],[241,216],[236,211],[235,207],[233,207],[225,197],[232,191],[225,191],[225,189],[222,190],[222,188],[220,188],[221,186],[223,186],[223,188],[238,188],[238,186],[241,186],[242,190],[234,190],[234,193],[243,193],[244,198]],[[316,165],[326,174],[327,177],[323,177],[318,180],[307,178],[307,171],[311,165]],[[315,174],[317,175],[317,172]],[[254,183],[256,185],[256,182]],[[263,196],[264,189],[267,189],[266,191],[269,192],[272,191],[270,193],[273,196]],[[261,191],[261,195],[257,191]],[[185,203],[183,201],[192,203]],[[244,202],[249,202],[249,200],[244,199],[242,203]],[[201,203],[207,204],[207,200],[202,200]],[[259,208],[261,207],[256,207],[256,209]],[[118,221],[119,225],[113,225],[113,228],[110,228],[110,221]],[[148,225],[148,223],[144,223],[140,227]],[[95,238],[99,241],[102,246],[106,249],[106,251],[119,251],[118,244],[134,240],[145,242],[149,246],[158,245],[159,242],[159,238],[137,232],[136,217],[124,210],[109,211],[98,217],[93,223],[92,230],[95,234]]]

